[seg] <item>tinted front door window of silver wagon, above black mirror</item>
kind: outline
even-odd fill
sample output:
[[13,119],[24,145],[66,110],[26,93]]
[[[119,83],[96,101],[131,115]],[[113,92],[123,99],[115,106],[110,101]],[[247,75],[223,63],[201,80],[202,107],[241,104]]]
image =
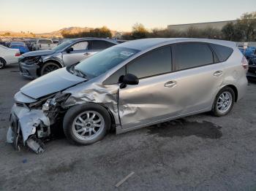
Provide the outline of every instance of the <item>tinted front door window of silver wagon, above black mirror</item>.
[[171,71],[170,47],[151,50],[127,65],[127,73],[138,78],[151,77]]

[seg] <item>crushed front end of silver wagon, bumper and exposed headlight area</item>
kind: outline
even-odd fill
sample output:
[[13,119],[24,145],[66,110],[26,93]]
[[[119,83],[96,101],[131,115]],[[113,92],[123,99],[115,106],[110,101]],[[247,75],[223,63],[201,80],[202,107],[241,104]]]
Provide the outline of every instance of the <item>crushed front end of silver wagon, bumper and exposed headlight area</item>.
[[61,112],[64,112],[61,103],[67,98],[67,94],[57,93],[35,100],[23,93],[16,93],[7,142],[12,143],[15,149],[23,144],[37,154],[44,152],[45,146],[41,139],[50,136],[50,125],[59,120]]

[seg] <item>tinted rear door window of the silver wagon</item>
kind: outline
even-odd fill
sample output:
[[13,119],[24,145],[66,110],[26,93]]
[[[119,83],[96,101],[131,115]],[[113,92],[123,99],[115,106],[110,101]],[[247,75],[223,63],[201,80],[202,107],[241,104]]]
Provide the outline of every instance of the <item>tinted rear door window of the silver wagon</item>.
[[214,54],[208,44],[182,43],[175,46],[176,71],[214,63]]

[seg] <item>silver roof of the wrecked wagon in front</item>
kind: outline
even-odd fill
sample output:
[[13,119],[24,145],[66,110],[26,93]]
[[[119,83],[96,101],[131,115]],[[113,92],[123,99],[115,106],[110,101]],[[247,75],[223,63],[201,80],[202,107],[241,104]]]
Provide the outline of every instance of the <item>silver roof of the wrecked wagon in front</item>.
[[194,38],[148,38],[138,39],[129,42],[118,44],[118,47],[127,47],[135,50],[148,50],[152,47],[159,47],[166,44],[174,44],[178,42],[207,42],[213,44],[220,44],[227,47],[236,47],[235,42],[222,41],[216,39],[194,39]]

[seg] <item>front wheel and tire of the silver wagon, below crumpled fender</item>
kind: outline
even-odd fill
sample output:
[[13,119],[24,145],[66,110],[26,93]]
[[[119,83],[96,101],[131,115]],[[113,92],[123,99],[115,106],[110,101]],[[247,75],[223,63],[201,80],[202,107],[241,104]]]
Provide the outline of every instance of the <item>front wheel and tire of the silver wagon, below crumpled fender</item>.
[[[89,118],[92,118],[94,114],[95,117],[90,121]],[[99,122],[99,120],[101,121]],[[64,134],[70,143],[78,145],[94,144],[100,141],[108,133],[110,126],[110,114],[98,104],[73,106],[67,111],[63,120]]]

